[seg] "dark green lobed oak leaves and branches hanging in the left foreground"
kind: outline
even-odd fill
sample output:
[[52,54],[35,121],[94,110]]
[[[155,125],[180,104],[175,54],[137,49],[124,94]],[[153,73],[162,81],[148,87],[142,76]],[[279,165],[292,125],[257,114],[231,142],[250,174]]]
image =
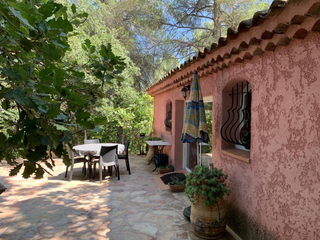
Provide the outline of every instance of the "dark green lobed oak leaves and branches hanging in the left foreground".
[[88,17],[74,4],[70,9],[52,0],[0,1],[0,160],[14,167],[10,175],[22,167],[17,152],[26,159],[24,178],[43,177],[44,165],[52,170],[47,150],[70,165],[63,142],[76,127],[107,124],[89,110],[104,82],[122,80],[126,63],[109,43],[99,50],[90,39],[82,43],[86,61],[66,59],[68,38]]

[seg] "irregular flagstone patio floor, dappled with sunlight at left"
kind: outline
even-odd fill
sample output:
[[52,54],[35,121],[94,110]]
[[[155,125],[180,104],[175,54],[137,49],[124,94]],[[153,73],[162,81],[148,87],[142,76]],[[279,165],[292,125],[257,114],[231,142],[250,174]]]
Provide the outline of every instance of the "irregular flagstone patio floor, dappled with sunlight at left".
[[102,184],[98,172],[85,180],[81,164],[69,182],[60,159],[53,176],[41,180],[9,177],[10,166],[0,163],[0,182],[8,188],[0,195],[0,239],[202,239],[182,214],[189,205],[184,194],[161,191],[145,156],[129,159],[131,175],[123,161],[120,180],[104,172]]

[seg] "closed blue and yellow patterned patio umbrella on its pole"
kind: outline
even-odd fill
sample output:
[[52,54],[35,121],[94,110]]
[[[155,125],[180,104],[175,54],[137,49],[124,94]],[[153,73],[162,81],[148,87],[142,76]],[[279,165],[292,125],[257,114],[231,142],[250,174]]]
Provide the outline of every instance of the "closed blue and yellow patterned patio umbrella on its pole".
[[197,71],[195,71],[192,80],[190,98],[186,118],[183,124],[181,140],[182,142],[200,143],[199,164],[201,165],[201,143],[209,141],[209,134]]

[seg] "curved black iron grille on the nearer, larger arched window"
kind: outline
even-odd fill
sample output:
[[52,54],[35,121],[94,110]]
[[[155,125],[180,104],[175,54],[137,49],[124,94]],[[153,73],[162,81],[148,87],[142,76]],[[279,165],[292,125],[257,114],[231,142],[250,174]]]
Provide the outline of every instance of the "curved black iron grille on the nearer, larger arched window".
[[231,107],[228,111],[228,119],[222,125],[220,134],[223,140],[242,145],[250,149],[251,138],[251,90],[249,83],[241,82],[241,92],[239,93],[239,84],[236,84],[236,93],[232,88]]

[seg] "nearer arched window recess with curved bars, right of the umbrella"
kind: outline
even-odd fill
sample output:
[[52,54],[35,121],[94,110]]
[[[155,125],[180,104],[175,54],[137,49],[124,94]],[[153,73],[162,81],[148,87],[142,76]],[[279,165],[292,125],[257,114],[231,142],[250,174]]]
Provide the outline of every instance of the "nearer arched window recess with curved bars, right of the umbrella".
[[224,89],[222,103],[222,148],[251,148],[251,84],[232,81]]

